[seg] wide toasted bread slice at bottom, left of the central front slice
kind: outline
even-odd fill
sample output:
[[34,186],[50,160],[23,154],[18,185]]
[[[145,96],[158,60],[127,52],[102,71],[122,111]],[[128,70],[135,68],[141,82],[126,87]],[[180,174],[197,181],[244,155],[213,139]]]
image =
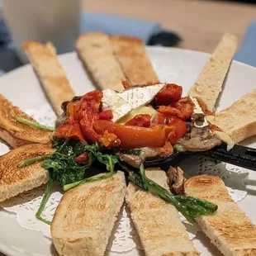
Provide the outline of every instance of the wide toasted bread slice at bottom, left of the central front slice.
[[103,256],[125,190],[125,175],[117,172],[64,193],[50,226],[59,255]]

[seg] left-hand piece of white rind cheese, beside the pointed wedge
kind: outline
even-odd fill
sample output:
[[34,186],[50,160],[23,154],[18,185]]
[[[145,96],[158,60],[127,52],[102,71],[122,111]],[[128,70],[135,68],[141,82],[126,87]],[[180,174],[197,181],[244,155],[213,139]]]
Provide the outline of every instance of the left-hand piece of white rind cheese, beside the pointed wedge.
[[111,110],[113,113],[112,121],[118,121],[122,116],[126,116],[133,107],[111,89],[103,90],[102,110]]

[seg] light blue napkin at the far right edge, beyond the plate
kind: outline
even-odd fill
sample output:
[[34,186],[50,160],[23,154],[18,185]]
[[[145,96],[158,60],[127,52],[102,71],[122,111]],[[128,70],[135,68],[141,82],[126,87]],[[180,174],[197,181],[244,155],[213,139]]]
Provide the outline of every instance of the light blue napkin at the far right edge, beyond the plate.
[[235,60],[256,67],[256,21],[249,24]]

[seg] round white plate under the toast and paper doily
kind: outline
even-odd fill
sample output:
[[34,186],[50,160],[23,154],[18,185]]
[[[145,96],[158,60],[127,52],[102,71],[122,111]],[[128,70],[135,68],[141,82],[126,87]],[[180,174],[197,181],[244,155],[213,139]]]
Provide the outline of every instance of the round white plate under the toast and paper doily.
[[[183,86],[184,94],[192,86],[210,57],[208,54],[191,50],[159,47],[149,47],[148,53],[154,64],[154,69],[159,74],[160,81],[178,83]],[[64,66],[76,95],[82,95],[94,89],[77,55],[74,53],[61,55],[59,60]],[[230,106],[239,97],[251,92],[255,88],[255,84],[256,69],[234,61],[220,96],[218,110]],[[0,78],[0,92],[21,109],[40,108],[47,101],[31,65],[14,70]],[[256,148],[255,137],[245,141],[244,145]],[[250,171],[249,179],[254,181],[255,186],[256,172]],[[256,224],[256,215],[254,214],[256,187],[250,186],[249,188],[248,196],[239,202],[239,206]],[[49,256],[54,254],[50,239],[46,239],[40,232],[21,228],[17,224],[15,215],[0,210],[0,227],[0,251],[2,253],[12,256]],[[211,245],[209,239],[206,239],[201,233],[198,233],[193,242],[203,256],[220,255],[218,250]],[[110,255],[120,254],[111,253]],[[138,253],[132,250],[122,255],[135,256]]]

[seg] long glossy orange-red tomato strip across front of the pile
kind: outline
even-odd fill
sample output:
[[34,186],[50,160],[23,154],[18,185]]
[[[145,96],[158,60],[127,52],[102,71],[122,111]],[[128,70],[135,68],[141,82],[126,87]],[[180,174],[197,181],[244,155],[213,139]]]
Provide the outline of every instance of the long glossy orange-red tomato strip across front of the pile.
[[164,126],[154,126],[153,128],[123,126],[105,120],[97,120],[93,126],[98,134],[102,135],[105,130],[115,134],[121,140],[122,149],[162,147],[166,140]]

